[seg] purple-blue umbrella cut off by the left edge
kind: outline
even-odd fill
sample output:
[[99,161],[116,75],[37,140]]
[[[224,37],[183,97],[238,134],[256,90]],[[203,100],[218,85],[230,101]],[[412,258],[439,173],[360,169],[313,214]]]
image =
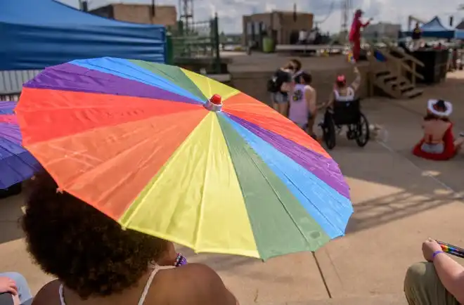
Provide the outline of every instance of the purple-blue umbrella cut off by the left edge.
[[0,102],[0,189],[30,179],[39,162],[21,146],[21,134],[14,115],[15,102]]

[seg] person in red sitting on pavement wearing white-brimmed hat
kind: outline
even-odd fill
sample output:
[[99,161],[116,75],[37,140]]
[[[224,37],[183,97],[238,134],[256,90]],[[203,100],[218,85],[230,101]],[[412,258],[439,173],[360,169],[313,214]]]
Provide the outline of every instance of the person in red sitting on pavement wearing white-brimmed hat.
[[430,160],[449,160],[456,155],[463,138],[455,140],[449,115],[453,105],[444,100],[429,100],[424,117],[424,136],[413,148],[413,154]]

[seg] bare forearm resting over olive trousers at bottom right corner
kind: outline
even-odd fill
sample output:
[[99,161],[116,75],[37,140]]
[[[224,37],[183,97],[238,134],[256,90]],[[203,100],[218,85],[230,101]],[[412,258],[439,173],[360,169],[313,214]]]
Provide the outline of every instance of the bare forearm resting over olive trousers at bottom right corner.
[[464,304],[464,267],[446,254],[438,254],[433,260],[438,277],[446,290]]

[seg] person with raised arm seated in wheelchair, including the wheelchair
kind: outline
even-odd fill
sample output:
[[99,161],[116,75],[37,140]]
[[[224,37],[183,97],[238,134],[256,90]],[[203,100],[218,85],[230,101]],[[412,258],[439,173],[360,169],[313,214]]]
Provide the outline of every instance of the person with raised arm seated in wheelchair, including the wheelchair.
[[344,125],[348,126],[347,138],[355,139],[359,146],[366,145],[369,139],[368,122],[361,113],[360,100],[356,97],[356,91],[361,86],[361,74],[356,66],[353,69],[356,77],[351,84],[347,84],[344,75],[337,76],[333,92],[326,104],[324,120],[319,124],[329,149],[335,147],[335,128],[340,134]]

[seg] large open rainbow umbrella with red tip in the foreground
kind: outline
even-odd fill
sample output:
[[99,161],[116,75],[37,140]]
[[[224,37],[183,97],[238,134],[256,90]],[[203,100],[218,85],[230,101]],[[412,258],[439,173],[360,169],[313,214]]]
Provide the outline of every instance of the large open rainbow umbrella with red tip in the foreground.
[[349,188],[328,153],[238,90],[120,58],[46,68],[16,108],[61,190],[196,252],[268,259],[344,235]]

